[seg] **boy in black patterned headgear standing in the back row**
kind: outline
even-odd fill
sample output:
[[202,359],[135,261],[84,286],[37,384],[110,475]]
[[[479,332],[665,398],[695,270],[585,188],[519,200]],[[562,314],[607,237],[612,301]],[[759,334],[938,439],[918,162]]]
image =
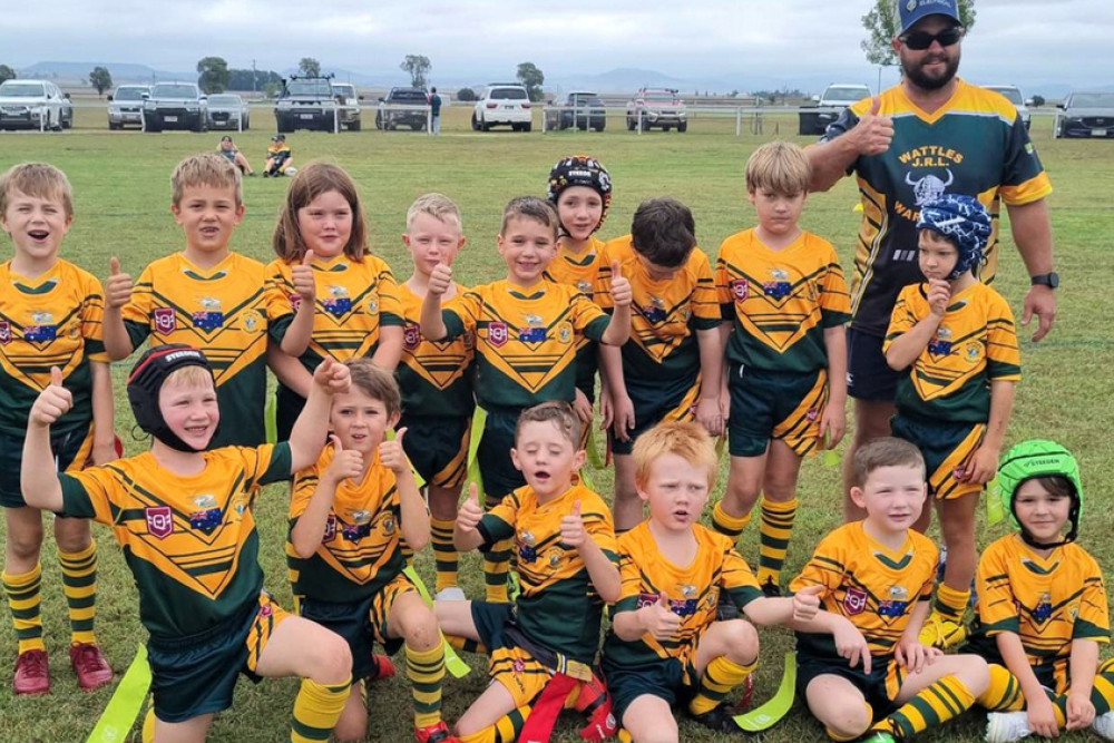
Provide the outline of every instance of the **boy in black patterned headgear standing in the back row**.
[[[557,257],[546,270],[546,278],[575,286],[595,301],[600,280],[608,278],[612,270],[604,241],[596,237],[612,204],[612,177],[595,157],[563,157],[549,170],[546,198],[557,208],[560,219]],[[582,448],[587,446],[592,405],[596,400],[596,369],[599,365],[596,355],[596,344],[582,339],[576,352],[574,404],[584,424]]]

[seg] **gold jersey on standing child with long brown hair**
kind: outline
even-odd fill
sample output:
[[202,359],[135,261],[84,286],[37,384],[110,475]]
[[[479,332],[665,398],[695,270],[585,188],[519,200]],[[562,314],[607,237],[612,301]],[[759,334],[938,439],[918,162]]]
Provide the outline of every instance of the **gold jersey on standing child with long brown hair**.
[[[292,265],[272,261],[267,273],[267,315],[271,338],[282,343],[302,297],[294,291]],[[343,253],[313,261],[313,334],[302,354],[302,365],[317,368],[325,356],[348,361],[371,356],[379,345],[379,329],[404,324],[399,287],[391,267],[374,255],[353,261]]]

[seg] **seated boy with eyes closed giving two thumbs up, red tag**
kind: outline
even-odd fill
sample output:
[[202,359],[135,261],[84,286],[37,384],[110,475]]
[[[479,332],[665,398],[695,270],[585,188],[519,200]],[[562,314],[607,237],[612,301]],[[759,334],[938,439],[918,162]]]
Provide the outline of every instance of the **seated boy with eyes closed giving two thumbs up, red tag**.
[[515,604],[437,602],[447,635],[491,654],[492,683],[457,721],[463,743],[549,740],[566,703],[590,712],[584,731],[615,732],[592,671],[605,602],[619,596],[615,530],[607,504],[576,480],[584,463],[580,423],[567,402],[527,409],[510,454],[526,485],[487,514],[475,486],[453,539],[461,550],[514,539],[521,589]]

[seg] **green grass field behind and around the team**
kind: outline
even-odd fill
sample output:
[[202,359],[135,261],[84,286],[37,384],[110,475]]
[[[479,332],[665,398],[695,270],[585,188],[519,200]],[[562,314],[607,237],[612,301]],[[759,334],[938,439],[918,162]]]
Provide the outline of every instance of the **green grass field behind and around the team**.
[[[125,270],[139,273],[149,261],[178,250],[182,235],[169,214],[169,174],[185,155],[215,148],[217,135],[166,133],[144,135],[134,131],[109,133],[102,109],[79,108],[76,128],[56,135],[0,135],[0,169],[21,160],[47,160],[69,175],[74,184],[77,215],[62,247],[65,257],[99,276],[107,274],[110,256],[119,256]],[[365,126],[374,111],[364,113]],[[395,268],[404,280],[410,272],[400,241],[405,209],[419,194],[439,190],[460,205],[469,243],[458,261],[458,275],[466,283],[490,281],[504,273],[495,252],[499,215],[506,202],[520,194],[541,194],[551,164],[561,155],[592,153],[610,169],[615,199],[603,235],[612,237],[628,232],[631,215],[649,196],[670,194],[690,204],[696,216],[697,236],[705,250],[715,254],[729,234],[751,226],[753,214],[745,202],[743,164],[755,146],[780,135],[795,133],[795,117],[768,116],[762,135],[734,136],[734,117],[696,118],[687,134],[653,133],[635,136],[619,119],[608,121],[600,134],[565,131],[543,136],[510,134],[501,130],[477,134],[468,129],[470,109],[449,109],[443,133],[433,139],[407,133],[374,129],[359,134],[306,134],[289,137],[297,164],[312,158],[328,158],[343,165],[359,183],[371,227],[373,251]],[[265,110],[254,111],[255,128],[236,137],[241,149],[256,167],[271,133],[273,119]],[[540,127],[538,127],[540,128]],[[1056,186],[1051,197],[1056,233],[1057,268],[1063,276],[1058,292],[1059,316],[1053,334],[1039,344],[1024,332],[1022,352],[1025,379],[1018,389],[1017,407],[1010,423],[1008,443],[1022,438],[1047,437],[1069,447],[1079,457],[1087,495],[1082,529],[1083,542],[1104,567],[1114,566],[1114,443],[1110,433],[1114,341],[1110,317],[1114,316],[1114,262],[1106,253],[1114,234],[1114,213],[1110,209],[1114,193],[1114,151],[1101,141],[1061,141],[1049,136],[1045,119],[1034,124],[1034,138]],[[804,144],[804,139],[798,138]],[[271,233],[286,182],[245,179],[247,214],[233,239],[234,250],[261,261],[272,257]],[[818,194],[805,206],[803,226],[830,238],[850,266],[859,215],[852,212],[857,201],[853,183],[844,180],[831,193]],[[1024,266],[1005,241],[1001,280],[998,289],[1014,311],[1027,286]],[[3,250],[8,255],[10,247]],[[1104,257],[1105,256],[1105,257]],[[1024,329],[1023,329],[1024,331]],[[129,452],[144,442],[128,434],[131,414],[123,394],[123,379],[128,362],[117,364],[118,429]],[[609,475],[597,477],[608,492]],[[797,570],[812,546],[840,520],[839,473],[819,458],[803,468],[802,507],[790,548],[786,574]],[[722,481],[720,487],[722,488]],[[261,498],[258,520],[262,556],[268,587],[284,605],[290,605],[285,578],[283,540],[285,538],[285,489],[273,487]],[[988,527],[980,516],[980,542],[1006,532],[1005,525]],[[136,596],[130,576],[107,530],[96,527],[100,551],[100,594],[98,630],[118,672],[123,672],[145,634],[136,614]],[[2,534],[2,527],[0,527]],[[749,529],[742,540],[743,554],[756,559],[756,529]],[[2,741],[84,741],[111,696],[113,688],[94,694],[77,690],[66,663],[68,627],[65,602],[53,558],[53,544],[45,549],[43,616],[46,639],[52,651],[53,692],[45,698],[14,698],[10,676],[0,677],[0,740]],[[432,560],[423,554],[419,569],[432,579]],[[481,593],[477,579],[479,565],[465,563],[466,588],[472,596]],[[10,667],[16,644],[7,613],[0,618],[0,664]],[[756,700],[762,701],[776,687],[781,657],[791,647],[792,637],[783,630],[763,630],[763,665],[758,672]],[[447,680],[446,714],[455,720],[485,685],[482,659],[473,663],[476,672],[462,681]],[[241,684],[236,705],[216,723],[214,741],[262,743],[284,740],[289,712],[296,693],[293,681],[267,682],[260,686]],[[412,740],[409,685],[404,678],[378,684],[371,692],[371,740]],[[927,734],[926,741],[981,740],[983,716],[970,714],[942,732]],[[579,724],[563,722],[556,740],[576,741]],[[682,726],[685,741],[726,740],[697,729]],[[766,733],[769,743],[823,740],[823,731],[800,707]],[[1077,734],[1074,740],[1091,740]],[[1095,739],[1097,740],[1097,739]]]

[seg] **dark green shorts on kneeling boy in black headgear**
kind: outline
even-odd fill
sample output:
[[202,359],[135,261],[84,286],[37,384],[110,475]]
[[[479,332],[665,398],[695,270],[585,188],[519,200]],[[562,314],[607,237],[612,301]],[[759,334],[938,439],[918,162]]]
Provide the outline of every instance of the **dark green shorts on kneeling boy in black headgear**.
[[289,615],[264,592],[227,622],[188,637],[147,642],[155,716],[185,722],[232,706],[236,678],[258,683],[255,668],[275,627]]

